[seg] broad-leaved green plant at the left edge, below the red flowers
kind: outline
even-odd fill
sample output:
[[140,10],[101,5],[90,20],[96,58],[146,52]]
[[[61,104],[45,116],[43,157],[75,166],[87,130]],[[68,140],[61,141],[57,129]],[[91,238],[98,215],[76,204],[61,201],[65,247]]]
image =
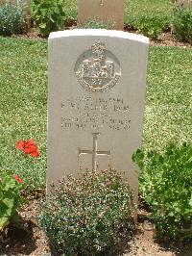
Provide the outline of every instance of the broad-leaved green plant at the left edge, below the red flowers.
[[11,221],[18,221],[18,210],[24,199],[20,192],[23,180],[7,170],[0,172],[0,231]]

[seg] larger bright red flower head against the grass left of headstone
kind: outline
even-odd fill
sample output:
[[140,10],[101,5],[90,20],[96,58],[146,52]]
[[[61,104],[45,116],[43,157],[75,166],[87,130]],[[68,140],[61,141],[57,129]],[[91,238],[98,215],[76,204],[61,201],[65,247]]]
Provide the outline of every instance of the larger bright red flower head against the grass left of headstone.
[[26,154],[31,155],[32,157],[39,157],[38,148],[35,140],[29,141],[18,141],[16,144],[18,150],[22,150]]

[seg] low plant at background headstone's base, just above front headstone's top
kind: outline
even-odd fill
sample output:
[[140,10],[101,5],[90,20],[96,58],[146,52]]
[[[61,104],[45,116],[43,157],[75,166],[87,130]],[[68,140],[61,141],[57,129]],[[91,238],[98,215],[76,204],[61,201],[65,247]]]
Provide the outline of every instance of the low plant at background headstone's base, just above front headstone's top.
[[84,24],[78,24],[78,29],[112,29],[114,23],[110,20],[103,22],[97,17],[88,17]]

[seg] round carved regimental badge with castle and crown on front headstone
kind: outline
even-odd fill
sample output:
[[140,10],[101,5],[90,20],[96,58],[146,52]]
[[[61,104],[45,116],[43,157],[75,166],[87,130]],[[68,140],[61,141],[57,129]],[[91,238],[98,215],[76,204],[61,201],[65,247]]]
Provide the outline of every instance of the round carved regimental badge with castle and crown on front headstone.
[[117,84],[121,68],[117,58],[98,40],[80,56],[75,73],[85,90],[107,91]]

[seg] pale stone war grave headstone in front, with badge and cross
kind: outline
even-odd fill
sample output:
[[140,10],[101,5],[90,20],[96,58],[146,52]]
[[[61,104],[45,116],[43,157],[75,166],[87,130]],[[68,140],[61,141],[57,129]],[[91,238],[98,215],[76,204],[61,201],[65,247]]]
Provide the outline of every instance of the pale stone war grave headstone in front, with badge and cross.
[[47,192],[85,169],[125,171],[138,195],[132,153],[141,146],[149,40],[121,31],[49,37]]

